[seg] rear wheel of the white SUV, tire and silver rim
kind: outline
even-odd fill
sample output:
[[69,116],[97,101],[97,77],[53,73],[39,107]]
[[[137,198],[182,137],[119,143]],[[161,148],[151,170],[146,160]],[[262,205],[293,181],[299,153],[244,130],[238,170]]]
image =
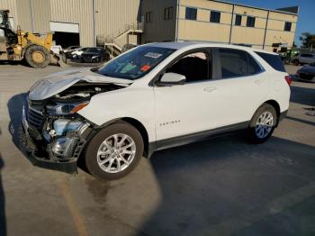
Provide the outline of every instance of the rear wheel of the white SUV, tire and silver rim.
[[274,106],[263,104],[257,109],[248,127],[249,141],[263,143],[267,141],[275,130],[277,114]]

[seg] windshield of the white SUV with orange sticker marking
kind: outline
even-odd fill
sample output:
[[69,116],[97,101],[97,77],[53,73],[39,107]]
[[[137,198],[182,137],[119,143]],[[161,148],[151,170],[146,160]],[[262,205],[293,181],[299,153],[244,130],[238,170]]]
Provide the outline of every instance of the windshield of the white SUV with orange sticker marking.
[[147,75],[174,51],[159,47],[139,47],[105,64],[99,68],[98,73],[106,77],[137,79]]

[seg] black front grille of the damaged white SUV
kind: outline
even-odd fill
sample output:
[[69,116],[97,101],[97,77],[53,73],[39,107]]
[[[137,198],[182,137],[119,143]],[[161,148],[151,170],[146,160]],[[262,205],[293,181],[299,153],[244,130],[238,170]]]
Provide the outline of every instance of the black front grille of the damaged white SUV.
[[27,121],[34,128],[41,129],[45,122],[45,116],[42,114],[44,103],[38,101],[29,101]]

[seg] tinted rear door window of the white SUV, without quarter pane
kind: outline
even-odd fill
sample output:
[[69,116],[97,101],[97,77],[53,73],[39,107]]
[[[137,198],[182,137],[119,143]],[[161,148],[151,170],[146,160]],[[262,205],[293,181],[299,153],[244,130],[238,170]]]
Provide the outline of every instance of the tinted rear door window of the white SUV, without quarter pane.
[[247,52],[220,49],[221,78],[246,77],[248,75]]

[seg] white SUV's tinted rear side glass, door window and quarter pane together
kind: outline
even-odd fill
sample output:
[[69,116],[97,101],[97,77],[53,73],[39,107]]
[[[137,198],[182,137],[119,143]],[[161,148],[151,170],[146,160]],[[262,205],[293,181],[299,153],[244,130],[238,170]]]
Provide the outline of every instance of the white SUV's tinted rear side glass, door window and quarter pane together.
[[255,59],[244,50],[220,49],[221,78],[247,77],[262,71]]

